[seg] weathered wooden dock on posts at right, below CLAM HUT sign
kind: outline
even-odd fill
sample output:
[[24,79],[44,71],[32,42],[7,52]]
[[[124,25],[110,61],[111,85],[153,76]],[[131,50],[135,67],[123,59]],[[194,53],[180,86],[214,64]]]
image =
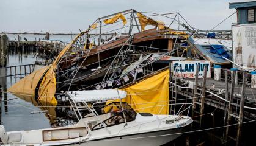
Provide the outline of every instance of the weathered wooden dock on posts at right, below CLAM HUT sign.
[[[206,71],[206,68],[205,68]],[[256,119],[256,89],[251,88],[251,75],[244,71],[230,71],[221,69],[221,80],[212,78],[175,78],[170,82],[175,86],[170,92],[175,92],[178,97],[191,99],[193,103],[192,116],[196,117],[194,122],[203,125],[203,115],[205,114],[205,105],[221,109],[224,113],[224,125],[238,123],[236,134],[230,133],[229,127],[225,128],[224,141],[232,139],[239,144],[241,136],[241,123],[244,120],[250,121]],[[174,109],[175,111],[175,109]],[[231,136],[232,135],[232,136]]]

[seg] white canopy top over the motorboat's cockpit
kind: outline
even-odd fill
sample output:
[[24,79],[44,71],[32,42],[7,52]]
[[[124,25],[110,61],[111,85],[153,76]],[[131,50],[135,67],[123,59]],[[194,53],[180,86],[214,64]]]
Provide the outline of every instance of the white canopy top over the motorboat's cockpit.
[[118,89],[68,91],[66,94],[74,102],[94,102],[97,100],[123,99],[127,93]]

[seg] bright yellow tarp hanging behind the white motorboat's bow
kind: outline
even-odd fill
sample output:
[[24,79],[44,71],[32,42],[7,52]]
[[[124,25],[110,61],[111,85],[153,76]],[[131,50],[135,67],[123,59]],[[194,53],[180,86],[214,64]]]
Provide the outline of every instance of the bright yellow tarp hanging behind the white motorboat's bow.
[[[127,92],[127,96],[122,102],[128,103],[137,112],[169,114],[169,69],[123,90]],[[109,103],[111,102],[106,104]],[[106,111],[109,111],[109,108],[106,108]]]

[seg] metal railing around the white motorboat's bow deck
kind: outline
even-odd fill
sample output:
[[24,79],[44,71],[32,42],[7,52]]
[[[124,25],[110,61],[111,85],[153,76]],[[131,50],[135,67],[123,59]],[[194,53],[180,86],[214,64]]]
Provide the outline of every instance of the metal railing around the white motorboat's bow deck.
[[[164,106],[167,106],[167,105],[173,105],[173,104],[148,106],[148,107],[146,107],[146,108],[153,108],[153,107],[157,107],[157,106],[162,106],[162,108],[161,108],[161,110],[162,110],[163,107],[164,107]],[[186,116],[188,116],[189,111],[190,111],[190,108],[191,108],[191,106],[192,106],[192,103],[176,103],[176,105],[181,105],[181,107],[180,107],[180,109],[178,110],[178,112],[174,114],[175,116],[177,116],[177,117],[175,118],[175,123],[178,122],[178,120],[180,119],[180,116],[181,116],[181,114],[182,114],[183,112],[187,111],[188,113],[186,114]],[[185,108],[185,105],[188,105],[188,107]],[[140,111],[143,112],[144,109],[146,109],[146,108],[139,108],[139,109],[137,109],[137,110],[140,110]],[[182,108],[184,108],[184,109],[182,109]],[[142,110],[141,110],[141,109],[142,109]],[[170,116],[163,117],[163,118],[157,117],[156,120],[152,120],[152,121],[150,121],[150,122],[144,122],[144,123],[141,123],[141,124],[138,124],[138,125],[134,125],[134,126],[131,126],[131,127],[123,128],[122,130],[120,130],[120,131],[118,132],[118,134],[119,134],[120,132],[122,132],[123,130],[127,130],[127,129],[134,128],[134,127],[138,127],[138,130],[137,130],[137,131],[139,131],[139,130],[141,130],[142,125],[145,125],[145,124],[147,124],[147,123],[156,122],[156,121],[159,122],[158,127],[157,127],[157,128],[159,128],[164,119],[167,119],[167,118],[172,117],[172,116],[174,116],[174,115],[170,115]]]

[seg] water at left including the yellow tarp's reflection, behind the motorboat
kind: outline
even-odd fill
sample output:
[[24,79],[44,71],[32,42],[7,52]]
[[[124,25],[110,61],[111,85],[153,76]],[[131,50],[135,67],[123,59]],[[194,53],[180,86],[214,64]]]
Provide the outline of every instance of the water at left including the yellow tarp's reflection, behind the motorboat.
[[[32,64],[34,61],[43,61],[34,55],[10,55],[7,66],[20,64]],[[38,128],[49,128],[70,125],[75,123],[69,106],[56,107],[49,103],[39,103],[34,97],[24,95],[13,95],[6,91],[14,83],[18,82],[24,75],[16,75],[0,78],[4,97],[1,102],[1,124],[7,131],[32,130]],[[48,113],[31,114],[32,111],[47,110]],[[50,116],[51,115],[51,116]],[[61,119],[57,118],[60,117]]]

